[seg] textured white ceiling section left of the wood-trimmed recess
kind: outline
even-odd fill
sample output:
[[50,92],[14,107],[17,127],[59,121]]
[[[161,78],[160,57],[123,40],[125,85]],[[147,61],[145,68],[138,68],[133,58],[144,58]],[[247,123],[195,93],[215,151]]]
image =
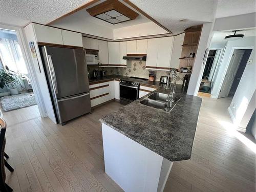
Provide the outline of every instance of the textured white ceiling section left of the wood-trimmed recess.
[[0,0],[0,23],[47,24],[87,2],[90,0]]

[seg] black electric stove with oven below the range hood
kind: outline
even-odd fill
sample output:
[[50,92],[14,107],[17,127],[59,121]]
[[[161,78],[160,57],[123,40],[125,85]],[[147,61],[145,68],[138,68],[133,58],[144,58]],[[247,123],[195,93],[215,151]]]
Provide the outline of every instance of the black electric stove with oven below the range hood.
[[139,77],[126,77],[119,81],[120,103],[129,104],[139,98],[140,82],[148,79]]

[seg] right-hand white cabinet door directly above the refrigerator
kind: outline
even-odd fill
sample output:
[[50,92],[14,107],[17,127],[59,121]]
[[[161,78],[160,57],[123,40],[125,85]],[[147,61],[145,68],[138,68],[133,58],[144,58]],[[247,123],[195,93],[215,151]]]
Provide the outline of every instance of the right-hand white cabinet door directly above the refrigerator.
[[68,46],[82,47],[82,34],[72,31],[62,30],[63,44]]

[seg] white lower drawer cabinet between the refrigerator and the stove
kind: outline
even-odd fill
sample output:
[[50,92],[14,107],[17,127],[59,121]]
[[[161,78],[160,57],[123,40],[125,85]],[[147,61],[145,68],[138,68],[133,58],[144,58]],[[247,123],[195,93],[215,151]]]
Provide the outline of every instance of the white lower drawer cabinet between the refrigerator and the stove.
[[116,95],[115,82],[118,82],[118,97],[119,97],[119,81],[108,81],[108,82],[92,84],[89,86],[92,107],[115,98],[115,95]]

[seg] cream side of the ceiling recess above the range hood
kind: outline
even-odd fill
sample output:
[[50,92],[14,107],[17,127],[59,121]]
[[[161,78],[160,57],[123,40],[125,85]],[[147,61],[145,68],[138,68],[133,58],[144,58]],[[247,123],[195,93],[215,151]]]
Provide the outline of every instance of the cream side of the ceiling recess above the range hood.
[[163,28],[159,27],[154,22],[133,25],[129,27],[122,27],[114,29],[114,40],[122,38],[131,38],[147,35],[157,35],[168,33]]

